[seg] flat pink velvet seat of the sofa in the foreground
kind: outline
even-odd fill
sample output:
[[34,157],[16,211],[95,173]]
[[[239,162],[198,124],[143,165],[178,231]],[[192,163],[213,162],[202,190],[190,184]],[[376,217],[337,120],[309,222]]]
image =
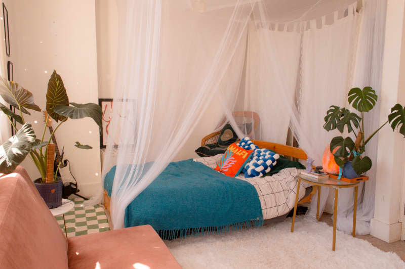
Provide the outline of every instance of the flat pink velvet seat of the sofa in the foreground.
[[71,237],[69,269],[181,268],[150,225]]

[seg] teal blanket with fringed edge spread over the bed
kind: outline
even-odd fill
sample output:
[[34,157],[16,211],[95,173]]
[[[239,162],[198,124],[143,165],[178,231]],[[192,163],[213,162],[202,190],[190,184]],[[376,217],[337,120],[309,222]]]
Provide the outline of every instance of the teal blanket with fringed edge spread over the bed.
[[[115,166],[104,188],[111,196]],[[125,212],[125,227],[151,225],[163,239],[261,226],[255,187],[192,159],[172,162]]]

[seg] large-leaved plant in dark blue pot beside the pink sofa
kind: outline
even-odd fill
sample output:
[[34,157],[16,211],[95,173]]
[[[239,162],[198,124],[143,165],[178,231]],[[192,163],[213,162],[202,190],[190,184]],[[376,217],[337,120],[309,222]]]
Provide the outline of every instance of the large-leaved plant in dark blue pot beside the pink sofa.
[[[101,107],[93,103],[69,103],[62,78],[54,70],[48,82],[46,96],[47,116],[45,122],[49,122],[50,118],[52,118],[59,123],[51,133],[49,140],[46,141],[45,132],[47,124],[44,126],[41,137],[37,137],[31,124],[24,120],[23,114],[30,115],[28,110],[41,111],[41,108],[35,105],[32,93],[18,83],[0,77],[0,96],[19,112],[19,115],[17,115],[11,109],[0,103],[0,110],[6,114],[14,129],[17,130],[16,135],[0,146],[0,173],[13,172],[17,165],[28,156],[41,174],[41,178],[35,181],[35,187],[44,198],[49,208],[58,207],[62,202],[63,184],[57,176],[57,171],[63,158],[57,163],[57,169],[54,171],[54,145],[51,144],[51,141],[55,135],[55,131],[62,123],[66,122],[68,118],[81,119],[91,117],[101,127]],[[16,126],[17,124],[14,124],[13,119],[15,122],[22,124],[19,129]],[[92,149],[92,147],[82,145],[79,142],[76,142],[74,146],[79,149]]]

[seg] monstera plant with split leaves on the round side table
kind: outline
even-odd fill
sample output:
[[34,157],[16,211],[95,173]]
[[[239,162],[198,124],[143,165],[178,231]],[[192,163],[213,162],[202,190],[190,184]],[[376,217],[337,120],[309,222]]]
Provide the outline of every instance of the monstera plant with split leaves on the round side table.
[[335,137],[331,141],[330,150],[333,152],[336,163],[342,168],[351,160],[351,166],[357,175],[370,170],[371,159],[364,156],[366,145],[384,125],[390,123],[392,130],[399,129],[399,132],[405,137],[405,107],[400,104],[391,108],[391,114],[388,115],[384,124],[371,133],[368,138],[365,137],[363,116],[364,113],[374,108],[377,98],[372,87],[352,88],[348,94],[348,101],[359,112],[360,116],[346,108],[331,106],[325,117],[323,128],[327,131],[338,129],[343,133],[346,127],[349,135],[353,133],[356,137],[355,141],[350,136],[346,138]]

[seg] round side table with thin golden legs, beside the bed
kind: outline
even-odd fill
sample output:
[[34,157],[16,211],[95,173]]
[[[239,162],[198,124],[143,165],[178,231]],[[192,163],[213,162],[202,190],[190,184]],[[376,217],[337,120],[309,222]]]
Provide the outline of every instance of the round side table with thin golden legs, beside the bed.
[[354,188],[354,209],[353,209],[353,237],[356,237],[356,211],[357,211],[357,192],[358,192],[358,185],[359,182],[344,182],[341,180],[336,180],[335,178],[331,177],[324,177],[317,179],[315,177],[311,177],[304,174],[298,175],[298,186],[297,186],[297,195],[295,198],[295,206],[294,206],[294,214],[293,214],[293,221],[291,223],[291,232],[294,232],[294,222],[295,222],[295,215],[297,213],[297,204],[298,204],[298,194],[300,191],[300,184],[301,181],[309,183],[313,186],[317,186],[318,188],[318,201],[316,205],[316,219],[319,220],[319,198],[320,198],[320,187],[329,187],[335,189],[335,203],[334,203],[334,210],[333,210],[333,242],[332,242],[332,250],[335,251],[336,245],[336,219],[337,219],[337,212],[338,212],[338,191],[341,188]]

